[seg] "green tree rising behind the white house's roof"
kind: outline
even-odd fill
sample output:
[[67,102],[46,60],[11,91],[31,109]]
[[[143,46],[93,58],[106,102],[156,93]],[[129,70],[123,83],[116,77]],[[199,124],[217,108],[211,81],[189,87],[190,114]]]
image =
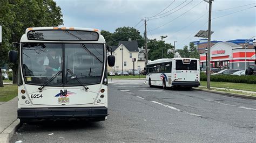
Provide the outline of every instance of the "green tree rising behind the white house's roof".
[[142,35],[140,35],[140,32],[133,27],[119,27],[116,29],[116,31],[113,33],[113,45],[118,45],[118,41],[128,41],[129,38],[132,40],[136,40],[138,42],[138,46],[142,47],[144,46],[144,39]]

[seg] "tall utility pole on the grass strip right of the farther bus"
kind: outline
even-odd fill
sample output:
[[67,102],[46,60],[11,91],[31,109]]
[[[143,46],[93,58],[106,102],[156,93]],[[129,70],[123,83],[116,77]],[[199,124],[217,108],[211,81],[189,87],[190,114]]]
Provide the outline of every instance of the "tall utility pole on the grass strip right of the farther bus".
[[204,0],[209,3],[209,17],[208,17],[208,51],[207,51],[207,89],[210,89],[210,81],[211,81],[211,22],[212,22],[212,2],[213,0]]

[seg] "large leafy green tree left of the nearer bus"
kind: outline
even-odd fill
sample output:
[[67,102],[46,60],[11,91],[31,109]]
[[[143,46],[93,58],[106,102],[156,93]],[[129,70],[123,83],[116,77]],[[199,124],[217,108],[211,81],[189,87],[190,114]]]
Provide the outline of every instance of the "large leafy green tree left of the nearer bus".
[[[58,26],[63,24],[61,9],[53,0],[3,0],[4,10],[0,10],[0,25],[3,28],[4,51],[2,63],[7,63],[14,72],[13,83],[17,83],[18,62],[10,63],[7,59],[7,52],[13,48],[12,42],[17,42],[25,33],[28,27]],[[6,6],[6,7],[5,7]],[[6,20],[8,19],[8,20]],[[1,57],[2,58],[2,57]]]

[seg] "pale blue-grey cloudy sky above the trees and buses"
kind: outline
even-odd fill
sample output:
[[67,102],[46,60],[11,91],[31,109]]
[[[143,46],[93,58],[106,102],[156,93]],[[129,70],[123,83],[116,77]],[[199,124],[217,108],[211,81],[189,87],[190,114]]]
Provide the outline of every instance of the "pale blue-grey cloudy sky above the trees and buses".
[[[159,16],[147,21],[147,37],[160,39],[161,35],[167,35],[165,41],[172,45],[173,41],[177,41],[177,48],[201,39],[194,35],[199,30],[207,30],[208,26],[208,3],[203,0],[56,0],[56,3],[62,9],[64,26],[110,32],[118,27],[135,26],[141,35],[144,33],[144,22],[138,22],[165,9]],[[255,0],[215,0],[212,4],[214,33],[211,39],[226,41],[255,36],[256,8],[252,8],[255,3]],[[230,13],[233,14],[228,15]]]

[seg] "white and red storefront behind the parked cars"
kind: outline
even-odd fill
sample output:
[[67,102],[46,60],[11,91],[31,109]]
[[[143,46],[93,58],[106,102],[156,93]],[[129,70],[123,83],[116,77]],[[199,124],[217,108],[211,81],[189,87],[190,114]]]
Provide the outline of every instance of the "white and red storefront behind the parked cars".
[[[232,42],[218,42],[211,47],[211,68],[245,69],[245,63],[254,64],[254,48],[242,48]],[[206,69],[206,54],[200,54],[200,66]]]

